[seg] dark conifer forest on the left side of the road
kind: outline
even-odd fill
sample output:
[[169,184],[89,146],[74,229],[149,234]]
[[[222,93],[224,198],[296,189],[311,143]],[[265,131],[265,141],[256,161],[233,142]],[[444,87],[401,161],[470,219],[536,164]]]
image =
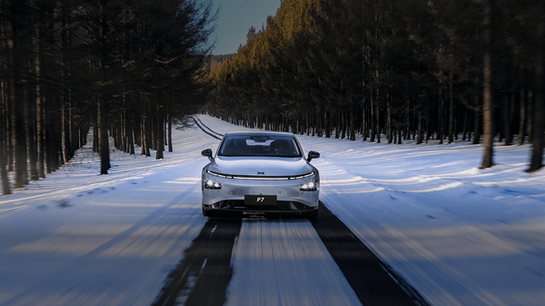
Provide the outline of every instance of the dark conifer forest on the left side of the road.
[[172,151],[173,122],[205,101],[214,18],[197,0],[0,1],[4,193],[70,161],[90,131],[101,173],[108,136],[126,153]]

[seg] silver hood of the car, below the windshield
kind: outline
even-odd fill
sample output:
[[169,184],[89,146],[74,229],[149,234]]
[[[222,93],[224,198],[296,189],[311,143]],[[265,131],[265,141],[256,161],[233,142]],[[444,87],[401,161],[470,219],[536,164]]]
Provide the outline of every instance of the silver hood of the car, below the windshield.
[[[231,175],[284,176],[316,172],[302,157],[224,157],[216,156],[207,168],[214,173]],[[264,173],[264,174],[262,174]]]

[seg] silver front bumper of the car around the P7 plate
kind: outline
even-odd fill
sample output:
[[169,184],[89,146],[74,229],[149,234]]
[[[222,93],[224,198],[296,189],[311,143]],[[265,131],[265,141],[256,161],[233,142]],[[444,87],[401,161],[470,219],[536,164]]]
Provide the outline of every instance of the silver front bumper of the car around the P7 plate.
[[[203,210],[225,212],[311,212],[318,209],[319,174],[286,180],[248,180],[214,176],[203,172]],[[206,189],[206,183],[219,183],[221,189]],[[315,191],[302,191],[300,186],[316,183]],[[217,185],[217,184],[216,184]],[[246,205],[244,195],[275,195],[276,205]]]

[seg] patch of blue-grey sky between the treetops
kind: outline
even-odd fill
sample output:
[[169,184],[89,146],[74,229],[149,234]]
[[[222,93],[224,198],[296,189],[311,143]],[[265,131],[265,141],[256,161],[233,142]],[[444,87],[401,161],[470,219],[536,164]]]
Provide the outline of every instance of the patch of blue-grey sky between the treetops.
[[219,9],[212,54],[236,53],[240,44],[246,43],[246,35],[251,26],[261,29],[267,22],[267,16],[276,15],[280,0],[213,0],[215,9]]

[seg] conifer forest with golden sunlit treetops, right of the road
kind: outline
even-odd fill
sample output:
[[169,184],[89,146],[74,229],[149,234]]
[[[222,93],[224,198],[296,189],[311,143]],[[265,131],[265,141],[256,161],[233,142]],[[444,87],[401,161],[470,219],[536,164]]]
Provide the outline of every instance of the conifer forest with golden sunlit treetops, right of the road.
[[213,67],[206,112],[364,142],[532,143],[542,166],[544,2],[282,0]]

